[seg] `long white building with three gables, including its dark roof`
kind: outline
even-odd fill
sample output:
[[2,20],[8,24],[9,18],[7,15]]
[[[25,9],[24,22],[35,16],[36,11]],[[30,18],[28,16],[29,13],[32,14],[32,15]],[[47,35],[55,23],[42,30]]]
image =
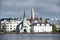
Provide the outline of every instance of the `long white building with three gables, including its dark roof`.
[[52,32],[52,26],[50,24],[40,24],[37,20],[32,23],[33,32]]

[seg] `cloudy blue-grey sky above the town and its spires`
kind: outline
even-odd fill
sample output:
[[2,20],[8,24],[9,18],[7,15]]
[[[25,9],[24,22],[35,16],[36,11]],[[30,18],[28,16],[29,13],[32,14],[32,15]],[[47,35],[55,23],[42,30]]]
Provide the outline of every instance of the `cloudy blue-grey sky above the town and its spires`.
[[30,18],[31,8],[35,17],[60,18],[60,0],[0,0],[0,18]]

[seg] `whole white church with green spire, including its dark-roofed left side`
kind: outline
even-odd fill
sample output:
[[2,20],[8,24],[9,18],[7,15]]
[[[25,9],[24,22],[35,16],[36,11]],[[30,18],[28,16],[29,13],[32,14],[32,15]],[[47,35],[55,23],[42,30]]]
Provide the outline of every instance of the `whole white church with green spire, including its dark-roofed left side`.
[[21,23],[18,24],[17,29],[19,29],[19,30],[17,30],[17,32],[20,32],[20,33],[22,33],[22,32],[30,33],[30,29],[31,29],[30,21],[26,20],[25,11],[24,11],[23,20]]

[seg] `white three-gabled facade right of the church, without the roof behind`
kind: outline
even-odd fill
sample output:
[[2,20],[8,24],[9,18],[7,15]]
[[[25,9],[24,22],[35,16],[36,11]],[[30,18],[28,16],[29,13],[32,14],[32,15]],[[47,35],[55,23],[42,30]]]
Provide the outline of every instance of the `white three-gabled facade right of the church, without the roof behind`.
[[52,32],[52,26],[49,24],[37,24],[33,26],[34,32]]

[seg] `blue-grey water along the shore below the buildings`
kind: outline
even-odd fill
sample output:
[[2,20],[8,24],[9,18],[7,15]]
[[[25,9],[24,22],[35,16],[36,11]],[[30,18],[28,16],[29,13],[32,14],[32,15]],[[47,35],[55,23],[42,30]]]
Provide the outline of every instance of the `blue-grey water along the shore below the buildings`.
[[3,34],[0,40],[60,40],[60,34]]

